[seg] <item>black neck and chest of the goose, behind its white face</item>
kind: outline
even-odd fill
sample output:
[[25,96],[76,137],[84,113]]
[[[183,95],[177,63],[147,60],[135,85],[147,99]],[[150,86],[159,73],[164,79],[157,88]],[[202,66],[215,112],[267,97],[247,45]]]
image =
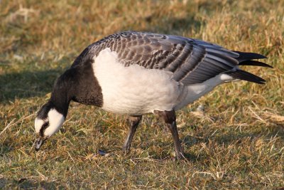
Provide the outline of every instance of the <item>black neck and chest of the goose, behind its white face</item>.
[[102,107],[102,88],[94,76],[92,61],[86,62],[66,70],[55,82],[50,101],[65,117],[71,100]]

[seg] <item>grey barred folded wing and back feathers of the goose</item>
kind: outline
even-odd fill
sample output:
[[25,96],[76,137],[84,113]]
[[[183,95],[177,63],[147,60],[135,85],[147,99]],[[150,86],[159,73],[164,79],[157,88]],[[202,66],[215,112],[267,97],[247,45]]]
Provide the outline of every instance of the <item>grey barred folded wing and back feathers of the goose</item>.
[[258,54],[241,54],[205,41],[144,32],[121,32],[107,36],[87,47],[73,66],[92,60],[104,48],[116,51],[125,66],[141,65],[148,69],[168,70],[173,79],[190,85],[202,83],[219,73],[236,68],[239,61],[264,58]]

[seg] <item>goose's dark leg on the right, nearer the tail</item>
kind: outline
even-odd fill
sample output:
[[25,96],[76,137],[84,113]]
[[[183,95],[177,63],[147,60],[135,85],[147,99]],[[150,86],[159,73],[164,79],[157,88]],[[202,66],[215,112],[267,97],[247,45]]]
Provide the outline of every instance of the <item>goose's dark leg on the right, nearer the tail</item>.
[[170,133],[173,136],[173,142],[175,144],[175,155],[177,159],[185,158],[185,153],[183,152],[182,146],[180,144],[180,138],[178,137],[177,124],[175,122],[175,110],[172,111],[155,111],[155,114],[158,114],[163,118],[165,124],[167,125]]

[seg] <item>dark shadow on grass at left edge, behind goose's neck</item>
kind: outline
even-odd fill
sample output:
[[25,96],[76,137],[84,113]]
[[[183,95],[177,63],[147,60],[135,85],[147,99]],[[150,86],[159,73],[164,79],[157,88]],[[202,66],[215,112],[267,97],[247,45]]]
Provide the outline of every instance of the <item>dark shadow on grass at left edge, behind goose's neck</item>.
[[62,70],[23,71],[0,75],[0,102],[50,93]]

